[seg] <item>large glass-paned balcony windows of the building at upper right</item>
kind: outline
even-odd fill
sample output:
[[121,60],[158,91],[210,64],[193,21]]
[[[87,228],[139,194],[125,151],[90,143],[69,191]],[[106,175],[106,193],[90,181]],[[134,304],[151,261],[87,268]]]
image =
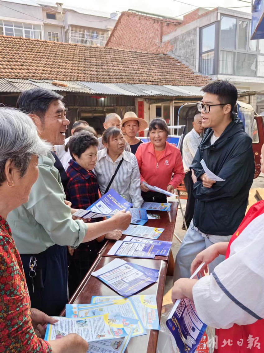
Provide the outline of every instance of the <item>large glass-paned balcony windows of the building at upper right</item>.
[[201,73],[264,77],[264,39],[250,40],[250,20],[221,15],[219,32],[214,48],[210,44],[210,51],[203,46],[203,41],[212,43],[212,26],[215,23],[200,30]]

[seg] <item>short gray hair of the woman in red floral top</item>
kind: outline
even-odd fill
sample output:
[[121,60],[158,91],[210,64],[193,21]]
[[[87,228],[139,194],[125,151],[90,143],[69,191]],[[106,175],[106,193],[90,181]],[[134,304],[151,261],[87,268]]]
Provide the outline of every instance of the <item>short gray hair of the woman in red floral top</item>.
[[31,118],[15,108],[0,108],[0,185],[6,180],[5,164],[14,162],[21,178],[25,175],[31,156],[44,156],[52,146],[43,141]]

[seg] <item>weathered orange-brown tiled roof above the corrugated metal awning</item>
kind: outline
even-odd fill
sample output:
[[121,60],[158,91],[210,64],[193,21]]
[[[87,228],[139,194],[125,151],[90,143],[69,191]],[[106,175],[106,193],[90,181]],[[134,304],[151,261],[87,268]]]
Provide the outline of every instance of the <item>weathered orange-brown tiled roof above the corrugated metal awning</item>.
[[210,79],[166,54],[2,35],[0,78],[182,86]]

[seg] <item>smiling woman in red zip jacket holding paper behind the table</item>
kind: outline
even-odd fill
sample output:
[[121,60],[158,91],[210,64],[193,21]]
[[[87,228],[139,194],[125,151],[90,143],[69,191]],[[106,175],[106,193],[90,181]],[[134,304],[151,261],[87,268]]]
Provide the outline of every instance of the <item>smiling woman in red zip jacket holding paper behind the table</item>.
[[174,193],[176,187],[183,181],[181,152],[166,141],[168,136],[169,129],[165,120],[155,118],[150,122],[147,133],[150,142],[138,146],[136,157],[144,201],[167,202],[164,194],[150,191],[144,183]]

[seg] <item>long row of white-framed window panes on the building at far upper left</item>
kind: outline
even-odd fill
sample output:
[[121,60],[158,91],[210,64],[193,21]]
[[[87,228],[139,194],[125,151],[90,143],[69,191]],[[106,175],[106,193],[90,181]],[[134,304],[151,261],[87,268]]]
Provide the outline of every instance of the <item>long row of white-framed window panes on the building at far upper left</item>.
[[0,34],[13,37],[42,39],[42,28],[36,24],[0,20]]

